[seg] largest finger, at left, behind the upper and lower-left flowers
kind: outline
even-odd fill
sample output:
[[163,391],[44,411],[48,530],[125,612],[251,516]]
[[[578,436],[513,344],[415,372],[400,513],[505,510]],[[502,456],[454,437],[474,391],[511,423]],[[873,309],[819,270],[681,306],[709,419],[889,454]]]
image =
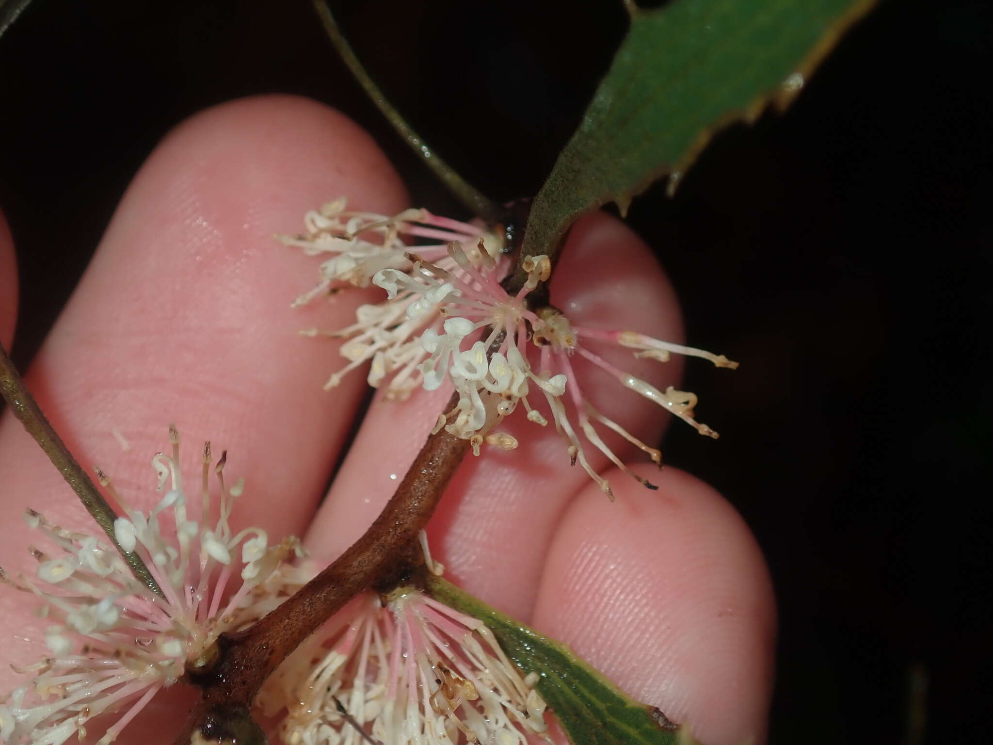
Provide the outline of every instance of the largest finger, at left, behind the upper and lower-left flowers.
[[[247,484],[234,522],[259,524],[277,540],[302,530],[350,426],[359,381],[322,391],[328,349],[296,335],[301,317],[289,308],[313,284],[312,261],[272,234],[345,193],[386,212],[405,202],[370,138],[314,102],[237,101],[165,139],[128,189],[28,378],[82,464],[98,462],[132,504],[147,508],[161,498],[150,458],[168,448],[174,421],[194,474],[204,440],[213,440],[214,457],[230,450],[225,473]],[[328,312],[345,322],[356,302]],[[114,430],[130,452],[121,452]],[[26,567],[27,544],[39,539],[23,529],[29,505],[94,531],[10,416],[0,424],[0,484],[8,570]],[[9,612],[0,636],[16,629],[19,640],[8,661],[37,660],[45,622],[26,620],[30,598],[2,596]],[[0,689],[16,684],[4,670]]]

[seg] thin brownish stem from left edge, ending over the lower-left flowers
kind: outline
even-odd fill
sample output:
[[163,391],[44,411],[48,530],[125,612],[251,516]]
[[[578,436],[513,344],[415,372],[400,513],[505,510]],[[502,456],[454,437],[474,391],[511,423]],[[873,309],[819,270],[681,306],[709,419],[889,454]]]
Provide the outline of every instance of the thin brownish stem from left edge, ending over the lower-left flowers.
[[72,491],[79,498],[79,502],[86,508],[86,512],[103,528],[103,532],[110,538],[110,542],[131,567],[131,572],[135,578],[152,592],[161,596],[162,590],[141,557],[136,553],[128,553],[117,542],[117,536],[114,534],[114,520],[116,520],[117,515],[103,499],[103,495],[100,494],[93,480],[72,457],[66,443],[63,442],[45,414],[42,413],[38,402],[25,386],[24,379],[17,372],[17,368],[14,367],[14,363],[11,362],[3,345],[0,345],[0,392],[3,393],[3,397],[7,400],[14,416],[21,420],[24,428],[28,430],[28,434],[35,438],[38,445],[49,456],[52,465],[59,469],[59,473],[69,483]]

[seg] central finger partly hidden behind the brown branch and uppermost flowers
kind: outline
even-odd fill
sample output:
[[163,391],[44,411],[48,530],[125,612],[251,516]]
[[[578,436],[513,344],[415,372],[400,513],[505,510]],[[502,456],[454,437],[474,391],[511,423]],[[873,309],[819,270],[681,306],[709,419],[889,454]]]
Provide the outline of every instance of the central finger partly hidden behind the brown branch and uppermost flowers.
[[[631,230],[606,215],[591,216],[573,229],[553,277],[551,301],[575,323],[636,328],[670,340],[680,337],[671,288],[653,257]],[[606,354],[656,384],[674,382],[678,374],[678,363],[636,361],[622,350]],[[577,374],[594,403],[636,435],[649,442],[657,439],[664,412],[582,362],[577,363]],[[405,403],[372,406],[311,529],[315,545],[337,553],[374,518],[447,396],[443,390],[433,395],[418,392]],[[566,501],[589,477],[578,467],[570,468],[553,425],[538,427],[526,421],[520,409],[500,427],[513,434],[520,447],[511,452],[490,448],[481,458],[469,458],[447,490],[431,531],[434,549],[460,583],[526,618],[547,538]],[[551,420],[547,410],[545,414]],[[625,452],[621,445],[617,450]],[[594,468],[603,468],[606,458],[589,446],[587,452]]]

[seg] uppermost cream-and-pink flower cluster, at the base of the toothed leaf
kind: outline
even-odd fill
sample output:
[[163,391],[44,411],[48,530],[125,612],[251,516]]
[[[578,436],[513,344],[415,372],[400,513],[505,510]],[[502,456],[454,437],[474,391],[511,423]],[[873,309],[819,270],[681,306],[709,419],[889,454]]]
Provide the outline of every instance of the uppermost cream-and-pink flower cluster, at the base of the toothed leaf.
[[[350,260],[361,266],[362,271],[358,275],[354,272],[336,274],[326,263],[322,265],[322,283],[317,292],[328,291],[336,280],[363,286],[371,278],[372,284],[387,294],[386,300],[378,305],[358,308],[352,326],[324,332],[328,336],[349,339],[341,349],[349,364],[334,373],[326,387],[337,385],[344,374],[366,362],[371,363],[369,384],[380,387],[385,383],[386,397],[391,399],[405,398],[418,387],[433,390],[449,381],[458,392],[458,403],[454,409],[439,416],[435,431],[445,427],[457,437],[472,441],[477,455],[484,442],[503,449],[517,447],[513,436],[497,432],[495,428],[518,403],[523,403],[530,421],[542,426],[547,424],[546,416],[528,400],[528,395],[536,389],[545,399],[551,419],[566,441],[570,461],[579,463],[612,498],[610,485],[587,459],[577,424],[587,442],[646,487],[654,488],[624,465],[604,442],[595,424],[634,444],[655,463],[661,463],[661,454],[592,406],[574,371],[572,360],[576,355],[689,423],[700,434],[717,437],[713,429],[694,418],[697,399],[693,393],[671,386],[664,391],[658,390],[647,381],[615,367],[584,343],[614,344],[634,350],[635,357],[658,362],[666,362],[669,355],[675,353],[700,357],[722,368],[733,369],[738,367],[737,363],[723,355],[669,344],[634,331],[601,331],[576,326],[551,306],[529,309],[526,296],[550,274],[548,258],[523,258],[522,268],[528,272],[528,278],[520,291],[511,296],[500,283],[509,267],[505,258],[499,258],[498,249],[502,246],[491,247],[488,241],[494,239],[494,233],[486,234],[480,227],[437,218],[418,210],[407,210],[391,219],[344,213],[344,205],[344,200],[339,200],[324,208],[321,216],[325,217],[321,223],[314,213],[310,213],[308,234],[295,241],[287,239],[314,253],[315,246],[321,240],[331,241],[334,232],[322,233],[320,229],[327,231],[331,228],[326,224],[340,225],[348,219],[351,221],[347,223],[351,230],[347,241]],[[448,233],[443,235],[439,227]],[[361,232],[373,229],[378,231],[378,241],[363,242],[359,237]],[[399,241],[400,234],[448,238],[451,242],[447,246],[410,247]],[[322,238],[322,235],[326,237]],[[392,241],[389,249],[383,247],[387,241]],[[467,250],[464,244],[474,247]],[[339,256],[344,255],[341,253],[344,244],[335,245],[339,246],[335,249],[339,250]],[[387,252],[390,258],[383,263]],[[482,336],[482,330],[488,328],[489,333]],[[322,332],[304,333],[317,335]]]

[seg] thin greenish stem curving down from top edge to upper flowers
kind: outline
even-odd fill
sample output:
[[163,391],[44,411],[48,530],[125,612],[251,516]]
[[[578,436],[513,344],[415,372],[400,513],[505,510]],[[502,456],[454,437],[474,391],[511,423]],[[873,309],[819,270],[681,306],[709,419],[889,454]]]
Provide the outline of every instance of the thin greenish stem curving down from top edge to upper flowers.
[[327,2],[325,0],[314,0],[314,8],[317,10],[318,16],[321,17],[325,31],[327,31],[332,43],[342,56],[342,60],[345,61],[345,64],[349,66],[349,70],[355,75],[355,79],[358,80],[359,84],[382,112],[383,116],[393,125],[393,129],[420,156],[421,162],[434,171],[435,175],[442,180],[445,186],[459,198],[462,204],[472,210],[473,213],[491,224],[501,222],[503,219],[503,210],[499,205],[463,179],[436,152],[428,147],[427,143],[421,139],[421,136],[407,124],[399,111],[393,107],[393,104],[389,102],[389,99],[386,98],[379,86],[372,82],[372,78],[365,72],[365,68],[362,67],[361,62],[355,56],[355,51],[342,33],[335,17],[331,14]]

